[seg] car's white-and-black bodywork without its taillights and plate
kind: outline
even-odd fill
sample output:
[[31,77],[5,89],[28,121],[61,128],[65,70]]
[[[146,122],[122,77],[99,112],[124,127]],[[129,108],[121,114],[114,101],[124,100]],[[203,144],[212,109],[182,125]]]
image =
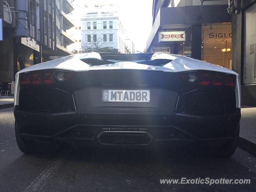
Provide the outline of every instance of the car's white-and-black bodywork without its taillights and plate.
[[[218,144],[230,142],[236,137],[241,117],[240,76],[236,72],[200,60],[163,53],[150,55],[150,61],[170,60],[161,66],[130,60],[97,66],[86,63],[87,59],[97,62],[103,60],[98,53],[77,54],[37,64],[16,74],[14,116],[20,136],[72,144],[84,142],[89,146],[92,143],[96,146],[109,144],[108,140],[112,136],[118,139],[115,145],[122,145],[118,142],[124,138],[131,139],[129,145],[133,145],[136,138],[144,138],[135,146],[167,143],[169,147],[174,143]],[[54,74],[58,70],[65,70],[73,72],[75,76],[52,85],[20,85],[20,74],[38,70],[54,70]],[[178,77],[180,73],[186,72],[198,72],[199,75],[204,72],[214,73],[214,82],[215,74],[231,76],[232,80],[236,78],[236,86],[225,86],[226,80],[223,81],[224,86],[219,87],[193,84]],[[150,90],[150,102],[102,102],[104,89]],[[44,93],[45,97],[42,96]],[[186,96],[192,96],[191,101],[188,99],[190,106],[201,105],[204,112],[213,110],[212,114],[199,114],[193,109],[191,114],[184,112],[186,109],[178,111]],[[215,96],[218,98],[215,99]],[[65,97],[68,99],[65,100]],[[22,98],[23,106],[22,102],[19,104]],[[44,106],[50,103],[56,107],[58,102],[70,102],[70,108],[57,112],[26,111],[22,108],[24,103],[25,106],[30,105],[30,102],[24,102],[26,98],[31,98],[34,105],[40,100]],[[54,102],[51,98],[55,99]],[[231,108],[228,108],[229,102],[232,103]],[[214,113],[216,107],[210,105],[217,106],[217,113]],[[230,111],[226,112],[226,108]],[[222,111],[224,113],[221,114]]]

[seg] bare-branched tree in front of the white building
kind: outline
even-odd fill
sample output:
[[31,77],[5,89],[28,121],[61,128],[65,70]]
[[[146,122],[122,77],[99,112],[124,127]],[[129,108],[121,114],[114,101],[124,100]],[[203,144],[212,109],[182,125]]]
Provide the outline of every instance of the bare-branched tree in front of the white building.
[[[96,38],[95,36],[96,35]],[[107,46],[107,42],[104,41],[101,34],[92,34],[91,42],[81,43],[82,53],[88,52],[108,52],[108,53],[119,53],[118,49],[110,48]]]

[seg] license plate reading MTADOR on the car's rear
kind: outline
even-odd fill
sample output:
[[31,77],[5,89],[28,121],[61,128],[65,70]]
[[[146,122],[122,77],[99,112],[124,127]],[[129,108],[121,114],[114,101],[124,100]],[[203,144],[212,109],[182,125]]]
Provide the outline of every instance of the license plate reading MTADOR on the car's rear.
[[103,102],[150,102],[150,90],[102,90]]

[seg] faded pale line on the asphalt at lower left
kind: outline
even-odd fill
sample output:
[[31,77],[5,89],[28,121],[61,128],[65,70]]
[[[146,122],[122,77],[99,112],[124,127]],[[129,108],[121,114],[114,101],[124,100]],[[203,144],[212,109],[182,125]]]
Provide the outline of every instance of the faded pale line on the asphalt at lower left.
[[38,192],[41,191],[52,174],[60,168],[60,165],[66,159],[68,152],[58,156],[27,188],[24,192]]

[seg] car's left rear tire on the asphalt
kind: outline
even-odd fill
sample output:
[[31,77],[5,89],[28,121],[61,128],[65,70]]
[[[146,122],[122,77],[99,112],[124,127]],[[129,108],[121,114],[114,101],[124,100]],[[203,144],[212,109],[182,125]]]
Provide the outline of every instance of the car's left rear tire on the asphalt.
[[20,137],[18,124],[15,121],[15,136],[19,149],[25,154],[54,154],[58,152],[52,142],[37,142]]

